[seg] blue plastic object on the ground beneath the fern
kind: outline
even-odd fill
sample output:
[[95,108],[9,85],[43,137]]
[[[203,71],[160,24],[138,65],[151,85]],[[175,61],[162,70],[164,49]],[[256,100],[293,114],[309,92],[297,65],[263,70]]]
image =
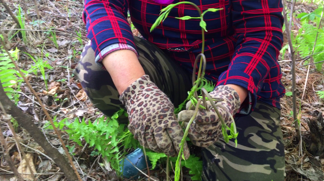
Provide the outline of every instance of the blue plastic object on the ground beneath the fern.
[[[146,161],[144,152],[142,149],[138,148],[126,156],[138,169],[143,170],[146,168]],[[138,175],[139,171],[126,159],[120,161],[120,170],[123,172],[123,177],[130,178],[132,176]],[[151,166],[151,162],[147,159],[148,166]]]

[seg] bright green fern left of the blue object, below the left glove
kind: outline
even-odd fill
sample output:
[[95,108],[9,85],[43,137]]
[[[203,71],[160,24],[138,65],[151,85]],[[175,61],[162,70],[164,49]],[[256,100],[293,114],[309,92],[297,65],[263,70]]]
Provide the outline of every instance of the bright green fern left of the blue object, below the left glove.
[[[119,162],[121,158],[123,158],[124,153],[120,155],[118,144],[124,144],[124,138],[131,136],[129,135],[129,131],[125,130],[125,125],[119,125],[117,122],[118,117],[124,113],[124,110],[120,110],[110,118],[105,119],[105,117],[101,117],[96,119],[93,123],[91,121],[86,123],[84,119],[80,123],[78,118],[72,123],[67,119],[57,122],[56,117],[54,117],[53,122],[54,125],[60,129],[66,127],[65,131],[69,134],[69,138],[79,144],[79,146],[83,146],[82,140],[89,143],[89,147],[94,147],[103,158],[107,159],[112,169],[119,173]],[[49,123],[45,124],[44,127],[46,127],[46,129],[53,129]],[[133,138],[133,140],[125,142],[124,146],[136,148],[138,145]]]

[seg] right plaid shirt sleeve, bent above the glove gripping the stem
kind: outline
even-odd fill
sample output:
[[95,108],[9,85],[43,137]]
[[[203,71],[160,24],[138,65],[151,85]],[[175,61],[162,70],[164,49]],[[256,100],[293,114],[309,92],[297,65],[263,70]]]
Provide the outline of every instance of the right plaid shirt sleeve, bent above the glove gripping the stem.
[[232,23],[237,43],[232,61],[220,75],[217,85],[235,84],[249,91],[249,105],[242,108],[240,114],[253,111],[265,78],[270,69],[277,66],[283,42],[281,11],[281,1],[232,1]]

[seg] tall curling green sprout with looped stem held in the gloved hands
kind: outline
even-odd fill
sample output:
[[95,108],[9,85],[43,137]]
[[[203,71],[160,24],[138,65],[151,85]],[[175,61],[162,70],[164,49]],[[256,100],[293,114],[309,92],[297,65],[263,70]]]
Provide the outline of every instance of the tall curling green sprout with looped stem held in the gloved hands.
[[[205,31],[207,32],[206,29],[206,22],[204,21],[204,15],[207,12],[217,12],[223,9],[215,9],[215,8],[210,8],[206,11],[204,11],[203,13],[201,12],[201,10],[198,8],[197,5],[195,5],[194,3],[191,2],[179,2],[176,4],[171,4],[169,6],[167,6],[166,8],[162,9],[160,11],[160,16],[156,19],[156,21],[153,23],[150,31],[154,30],[161,22],[163,22],[169,15],[169,13],[171,12],[172,8],[181,5],[181,4],[188,4],[188,5],[192,5],[193,7],[195,7],[199,13],[199,17],[191,17],[191,16],[184,16],[184,17],[176,17],[177,19],[180,20],[189,20],[189,19],[200,19],[199,25],[201,27],[201,37],[202,37],[202,46],[201,46],[201,53],[196,57],[196,60],[194,62],[194,68],[193,68],[193,73],[192,73],[192,84],[193,87],[191,88],[190,92],[188,93],[188,97],[187,100],[190,100],[192,102],[193,105],[199,105],[199,106],[195,106],[195,112],[192,116],[192,118],[190,119],[185,131],[184,131],[184,135],[183,138],[181,140],[181,144],[180,144],[180,151],[178,154],[178,159],[176,161],[176,168],[175,168],[175,180],[178,181],[180,178],[180,165],[181,165],[181,158],[185,160],[184,155],[183,155],[183,147],[184,147],[184,143],[186,141],[186,137],[188,135],[188,131],[190,128],[191,123],[194,121],[199,108],[204,108],[206,109],[206,99],[210,100],[210,103],[212,104],[216,114],[218,115],[221,123],[222,123],[222,134],[224,136],[224,140],[225,142],[229,142],[229,139],[235,139],[235,147],[237,146],[237,135],[238,132],[236,131],[236,126],[235,126],[235,122],[233,117],[231,116],[231,114],[227,111],[226,108],[222,107],[221,105],[215,105],[214,101],[221,101],[221,100],[213,100],[210,95],[208,94],[208,91],[205,88],[201,88],[201,94],[202,97],[200,98],[197,94],[197,89],[200,86],[200,84],[203,81],[203,78],[205,76],[205,69],[206,69],[206,58],[204,55],[204,49],[205,49]],[[197,80],[195,80],[195,74],[196,74],[196,65],[198,62],[198,59],[200,58],[200,63],[199,63],[199,69],[198,69],[198,75],[197,75]],[[204,64],[203,64],[204,62]],[[200,102],[203,101],[203,105],[200,104]],[[220,115],[220,113],[217,110],[217,107],[221,107],[223,108],[226,112],[228,112],[228,114],[230,115],[231,118],[231,126],[228,127],[222,116]],[[227,130],[230,131],[230,135],[227,134]]]

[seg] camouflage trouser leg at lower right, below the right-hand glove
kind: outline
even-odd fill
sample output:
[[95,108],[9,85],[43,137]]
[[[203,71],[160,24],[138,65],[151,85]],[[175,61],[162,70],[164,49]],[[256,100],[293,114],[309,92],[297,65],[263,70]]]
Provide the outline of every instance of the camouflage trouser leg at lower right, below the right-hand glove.
[[203,180],[284,181],[285,152],[280,110],[261,101],[251,115],[235,119],[238,144],[220,139],[203,149]]

